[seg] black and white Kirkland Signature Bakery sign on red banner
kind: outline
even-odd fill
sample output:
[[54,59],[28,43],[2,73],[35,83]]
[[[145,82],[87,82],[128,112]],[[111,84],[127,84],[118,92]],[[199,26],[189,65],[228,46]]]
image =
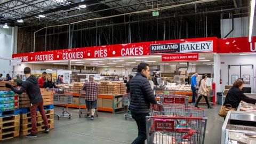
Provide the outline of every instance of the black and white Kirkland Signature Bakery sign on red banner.
[[150,54],[212,52],[213,42],[188,42],[150,45]]

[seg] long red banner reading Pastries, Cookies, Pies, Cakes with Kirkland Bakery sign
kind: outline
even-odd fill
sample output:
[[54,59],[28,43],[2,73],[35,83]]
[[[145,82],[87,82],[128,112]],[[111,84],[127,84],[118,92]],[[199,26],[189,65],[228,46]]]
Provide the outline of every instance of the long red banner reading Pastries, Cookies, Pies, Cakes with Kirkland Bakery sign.
[[[177,47],[178,46],[178,47]],[[179,50],[178,50],[179,49]],[[74,49],[13,54],[12,58],[28,61],[74,60],[109,57],[131,57],[163,53],[204,53],[217,51],[217,38],[175,39],[170,41],[141,42]]]

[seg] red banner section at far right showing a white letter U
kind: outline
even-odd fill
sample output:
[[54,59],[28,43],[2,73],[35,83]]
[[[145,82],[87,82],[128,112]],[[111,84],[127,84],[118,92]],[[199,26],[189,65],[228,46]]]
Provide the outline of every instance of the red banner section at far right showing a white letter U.
[[218,53],[256,52],[256,37],[249,43],[248,37],[219,38]]

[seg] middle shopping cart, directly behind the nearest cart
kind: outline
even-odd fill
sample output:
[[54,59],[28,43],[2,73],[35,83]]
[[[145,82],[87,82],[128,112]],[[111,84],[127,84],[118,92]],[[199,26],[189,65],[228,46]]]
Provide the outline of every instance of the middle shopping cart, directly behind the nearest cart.
[[151,116],[179,116],[179,117],[205,117],[205,110],[192,106],[172,103],[157,103],[151,106]]

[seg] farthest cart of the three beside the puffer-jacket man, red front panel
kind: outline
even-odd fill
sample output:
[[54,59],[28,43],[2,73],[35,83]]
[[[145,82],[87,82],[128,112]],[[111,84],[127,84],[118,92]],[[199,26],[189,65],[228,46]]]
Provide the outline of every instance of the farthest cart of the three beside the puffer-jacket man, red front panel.
[[161,103],[175,103],[181,105],[188,105],[188,96],[180,94],[159,94],[159,102]]

